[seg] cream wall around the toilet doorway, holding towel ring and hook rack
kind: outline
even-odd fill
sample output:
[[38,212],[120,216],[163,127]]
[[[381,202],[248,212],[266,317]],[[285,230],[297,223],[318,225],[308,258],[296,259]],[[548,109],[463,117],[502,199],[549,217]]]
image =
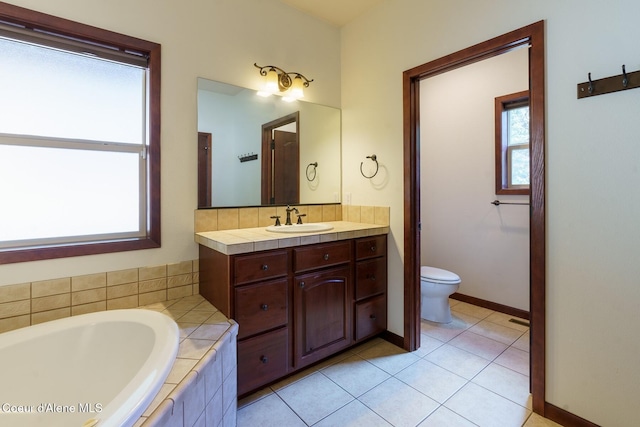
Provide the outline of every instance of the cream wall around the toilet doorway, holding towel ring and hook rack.
[[[603,426],[640,395],[640,89],[576,99],[576,84],[640,69],[640,3],[387,0],[342,30],[343,191],[391,206],[389,327],[402,334],[402,72],[544,19],[546,399]],[[360,176],[375,152],[385,186]]]

